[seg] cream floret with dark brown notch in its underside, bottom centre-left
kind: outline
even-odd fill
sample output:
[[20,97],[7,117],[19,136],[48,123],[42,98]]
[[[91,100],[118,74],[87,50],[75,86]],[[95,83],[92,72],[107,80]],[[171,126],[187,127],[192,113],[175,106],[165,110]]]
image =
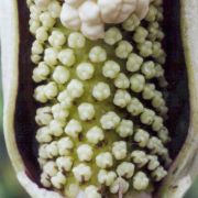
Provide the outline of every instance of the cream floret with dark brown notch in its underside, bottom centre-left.
[[88,182],[91,178],[91,168],[85,164],[79,164],[73,168],[75,178],[79,183]]

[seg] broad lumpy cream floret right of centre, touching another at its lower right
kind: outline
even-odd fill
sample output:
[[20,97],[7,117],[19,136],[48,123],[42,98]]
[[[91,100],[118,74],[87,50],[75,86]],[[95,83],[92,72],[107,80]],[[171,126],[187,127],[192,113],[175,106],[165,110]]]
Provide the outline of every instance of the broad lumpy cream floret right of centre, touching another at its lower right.
[[116,129],[120,123],[120,117],[116,112],[109,111],[101,117],[100,123],[105,130]]

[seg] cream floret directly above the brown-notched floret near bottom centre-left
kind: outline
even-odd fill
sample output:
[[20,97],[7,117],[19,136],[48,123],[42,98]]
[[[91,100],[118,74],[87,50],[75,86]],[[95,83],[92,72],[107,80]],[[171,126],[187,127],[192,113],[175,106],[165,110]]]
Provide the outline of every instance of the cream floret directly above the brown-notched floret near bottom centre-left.
[[77,148],[78,158],[81,162],[89,162],[92,158],[94,152],[92,147],[88,144],[82,144]]

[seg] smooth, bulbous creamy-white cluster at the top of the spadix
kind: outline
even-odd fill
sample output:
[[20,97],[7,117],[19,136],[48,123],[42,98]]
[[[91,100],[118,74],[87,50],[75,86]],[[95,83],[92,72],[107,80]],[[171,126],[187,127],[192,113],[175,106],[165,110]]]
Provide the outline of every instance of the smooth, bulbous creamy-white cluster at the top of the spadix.
[[152,0],[65,0],[61,12],[64,26],[81,30],[90,40],[103,38],[106,23],[122,23],[132,13],[142,20]]

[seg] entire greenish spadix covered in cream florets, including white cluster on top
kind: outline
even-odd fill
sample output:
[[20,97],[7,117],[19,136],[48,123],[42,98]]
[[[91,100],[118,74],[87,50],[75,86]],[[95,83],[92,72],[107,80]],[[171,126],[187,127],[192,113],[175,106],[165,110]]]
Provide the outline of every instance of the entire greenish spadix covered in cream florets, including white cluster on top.
[[[161,0],[28,3],[42,185],[101,198],[100,186],[125,194],[161,182],[170,161],[167,107],[154,82],[166,84]],[[103,40],[86,38],[96,35]]]

